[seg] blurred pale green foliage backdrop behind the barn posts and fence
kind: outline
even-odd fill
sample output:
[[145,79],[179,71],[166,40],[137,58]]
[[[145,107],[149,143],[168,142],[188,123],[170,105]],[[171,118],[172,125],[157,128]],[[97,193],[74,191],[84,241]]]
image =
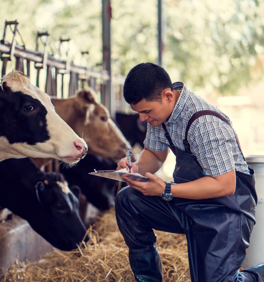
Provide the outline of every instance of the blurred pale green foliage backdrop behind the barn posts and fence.
[[[76,64],[83,63],[80,52],[87,50],[91,66],[101,63],[100,0],[0,4],[0,28],[5,20],[17,19],[27,49],[35,49],[37,31],[48,31],[55,56],[59,38],[71,38]],[[157,2],[112,0],[111,5],[112,58],[121,62],[121,74],[141,62],[157,63]],[[263,0],[164,0],[163,16],[163,62],[172,81],[235,95],[241,85],[261,78]]]

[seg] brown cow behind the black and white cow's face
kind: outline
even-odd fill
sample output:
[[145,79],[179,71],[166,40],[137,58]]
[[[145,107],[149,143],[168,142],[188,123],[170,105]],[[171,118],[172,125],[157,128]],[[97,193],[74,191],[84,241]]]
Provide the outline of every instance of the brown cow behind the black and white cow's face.
[[[95,102],[91,89],[81,90],[69,99],[52,97],[56,113],[82,138],[88,138],[88,153],[120,160],[130,144],[110,118],[108,109]],[[48,159],[34,159],[41,167]]]

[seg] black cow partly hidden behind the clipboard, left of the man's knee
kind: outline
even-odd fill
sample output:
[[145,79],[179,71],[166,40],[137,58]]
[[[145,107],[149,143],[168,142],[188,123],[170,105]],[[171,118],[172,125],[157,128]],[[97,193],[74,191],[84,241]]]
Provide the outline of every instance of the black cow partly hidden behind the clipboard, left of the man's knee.
[[[96,170],[116,170],[117,164],[111,160],[87,154],[77,166],[61,168],[65,179],[71,185],[81,188],[86,199],[100,210],[114,206],[118,181],[88,174]],[[125,182],[124,182],[125,183]]]

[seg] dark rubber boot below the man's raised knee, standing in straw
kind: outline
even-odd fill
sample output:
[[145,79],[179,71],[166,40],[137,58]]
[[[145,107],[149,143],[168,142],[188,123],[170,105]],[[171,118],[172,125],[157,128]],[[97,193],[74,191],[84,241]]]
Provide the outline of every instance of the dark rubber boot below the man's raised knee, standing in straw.
[[130,249],[128,257],[136,281],[162,282],[162,264],[155,243],[143,249]]

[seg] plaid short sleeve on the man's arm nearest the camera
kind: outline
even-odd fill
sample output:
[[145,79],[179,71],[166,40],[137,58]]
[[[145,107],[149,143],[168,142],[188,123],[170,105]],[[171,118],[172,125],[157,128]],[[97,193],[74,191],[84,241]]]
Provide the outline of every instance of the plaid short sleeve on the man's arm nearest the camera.
[[235,168],[232,147],[237,141],[229,125],[222,121],[204,122],[192,132],[188,139],[191,151],[205,175],[215,177]]

